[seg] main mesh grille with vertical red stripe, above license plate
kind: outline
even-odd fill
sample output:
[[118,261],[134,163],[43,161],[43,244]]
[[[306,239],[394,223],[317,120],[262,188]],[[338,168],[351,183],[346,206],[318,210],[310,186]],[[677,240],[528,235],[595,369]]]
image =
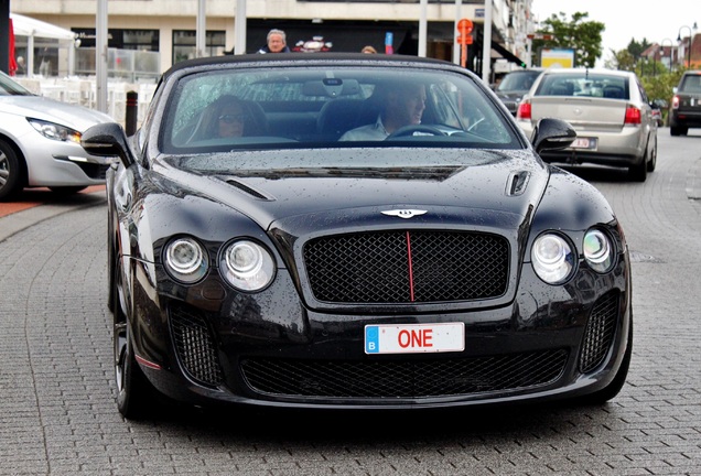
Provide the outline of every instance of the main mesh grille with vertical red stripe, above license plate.
[[429,303],[506,292],[509,246],[500,236],[381,231],[322,237],[304,246],[314,298],[335,303]]

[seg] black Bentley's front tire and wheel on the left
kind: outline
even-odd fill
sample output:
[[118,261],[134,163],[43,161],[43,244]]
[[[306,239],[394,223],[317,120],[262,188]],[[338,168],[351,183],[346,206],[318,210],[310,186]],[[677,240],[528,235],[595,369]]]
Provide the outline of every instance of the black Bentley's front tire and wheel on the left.
[[[116,271],[119,273],[119,271]],[[117,288],[119,284],[116,284]],[[115,290],[118,293],[118,289]],[[131,326],[117,296],[114,303],[115,381],[117,382],[117,409],[129,420],[140,420],[151,410],[151,385],[141,371],[133,351]]]

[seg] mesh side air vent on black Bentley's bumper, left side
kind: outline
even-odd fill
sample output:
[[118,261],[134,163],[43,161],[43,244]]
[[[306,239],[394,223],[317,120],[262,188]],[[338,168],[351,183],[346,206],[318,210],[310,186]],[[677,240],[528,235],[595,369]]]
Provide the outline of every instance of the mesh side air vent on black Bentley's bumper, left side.
[[222,369],[206,321],[196,312],[173,305],[170,309],[175,353],[187,375],[204,385],[222,383]]

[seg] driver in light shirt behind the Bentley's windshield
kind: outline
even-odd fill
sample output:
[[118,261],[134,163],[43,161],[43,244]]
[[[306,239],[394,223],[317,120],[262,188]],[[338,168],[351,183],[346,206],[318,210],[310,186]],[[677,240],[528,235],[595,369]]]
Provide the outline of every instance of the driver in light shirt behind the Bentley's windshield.
[[352,129],[338,140],[385,140],[397,129],[421,123],[423,109],[425,109],[424,85],[399,83],[386,94],[382,110],[375,123]]

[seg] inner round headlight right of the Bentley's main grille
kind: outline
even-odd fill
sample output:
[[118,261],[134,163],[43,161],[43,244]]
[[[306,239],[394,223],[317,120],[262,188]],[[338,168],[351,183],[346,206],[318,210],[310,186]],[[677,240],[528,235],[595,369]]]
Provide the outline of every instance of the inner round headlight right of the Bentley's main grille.
[[564,282],[574,269],[572,247],[560,235],[539,236],[530,255],[536,274],[549,284]]

